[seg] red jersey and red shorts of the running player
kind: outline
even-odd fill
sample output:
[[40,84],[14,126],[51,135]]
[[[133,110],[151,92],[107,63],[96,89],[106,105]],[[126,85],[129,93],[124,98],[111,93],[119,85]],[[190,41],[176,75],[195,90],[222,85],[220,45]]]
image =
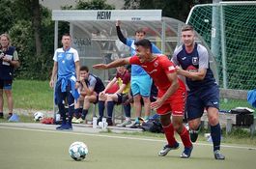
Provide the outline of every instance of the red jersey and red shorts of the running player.
[[[158,89],[158,98],[161,98],[171,86],[172,82],[168,79],[166,74],[174,73],[176,69],[174,64],[166,56],[157,55],[152,62],[147,63],[140,63],[139,58],[135,56],[130,58],[129,63],[141,66],[150,74]],[[156,110],[157,114],[164,115],[168,112],[172,112],[173,116],[184,116],[186,98],[185,84],[180,78],[178,78],[178,80],[180,87]]]

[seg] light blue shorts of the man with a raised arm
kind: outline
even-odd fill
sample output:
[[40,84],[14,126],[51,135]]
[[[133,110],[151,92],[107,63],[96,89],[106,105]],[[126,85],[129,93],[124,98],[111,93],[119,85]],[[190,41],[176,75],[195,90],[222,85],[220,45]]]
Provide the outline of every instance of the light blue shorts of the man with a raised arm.
[[152,78],[149,75],[131,76],[130,81],[132,96],[150,97]]

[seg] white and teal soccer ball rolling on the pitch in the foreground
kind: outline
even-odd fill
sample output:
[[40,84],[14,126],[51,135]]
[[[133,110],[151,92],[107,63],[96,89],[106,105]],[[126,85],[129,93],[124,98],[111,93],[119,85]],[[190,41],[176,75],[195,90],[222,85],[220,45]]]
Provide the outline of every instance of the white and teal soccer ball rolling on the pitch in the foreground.
[[88,155],[88,148],[83,142],[73,142],[70,146],[69,153],[71,158],[76,161],[82,160]]

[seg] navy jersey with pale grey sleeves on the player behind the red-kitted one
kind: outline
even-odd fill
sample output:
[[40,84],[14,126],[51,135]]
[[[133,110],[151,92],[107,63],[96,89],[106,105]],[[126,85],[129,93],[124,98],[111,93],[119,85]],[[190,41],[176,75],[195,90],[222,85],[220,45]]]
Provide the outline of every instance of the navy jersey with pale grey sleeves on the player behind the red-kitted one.
[[175,65],[181,66],[183,70],[197,72],[199,69],[207,69],[203,80],[192,80],[185,77],[186,85],[190,91],[216,85],[213,71],[210,69],[209,53],[203,45],[195,42],[191,53],[185,51],[185,45],[179,46],[174,51],[172,61]]

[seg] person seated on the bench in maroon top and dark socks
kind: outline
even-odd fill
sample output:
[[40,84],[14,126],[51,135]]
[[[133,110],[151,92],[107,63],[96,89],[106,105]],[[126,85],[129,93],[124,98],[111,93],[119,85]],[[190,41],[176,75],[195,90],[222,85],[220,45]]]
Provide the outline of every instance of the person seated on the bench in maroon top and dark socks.
[[[113,93],[108,94],[106,93],[107,90],[109,90],[115,83],[118,83],[119,89]],[[130,87],[130,74],[126,67],[118,67],[117,68],[117,74],[116,76],[107,84],[106,88],[100,92],[99,95],[99,114],[100,119],[98,122],[101,121],[103,114],[104,114],[104,108],[105,104],[107,107],[107,119],[106,122],[108,126],[113,126],[112,122],[112,114],[115,104],[120,104],[123,102],[123,97],[128,94],[129,87]],[[125,113],[126,113],[126,121],[128,124],[130,124],[130,104],[124,105]]]

